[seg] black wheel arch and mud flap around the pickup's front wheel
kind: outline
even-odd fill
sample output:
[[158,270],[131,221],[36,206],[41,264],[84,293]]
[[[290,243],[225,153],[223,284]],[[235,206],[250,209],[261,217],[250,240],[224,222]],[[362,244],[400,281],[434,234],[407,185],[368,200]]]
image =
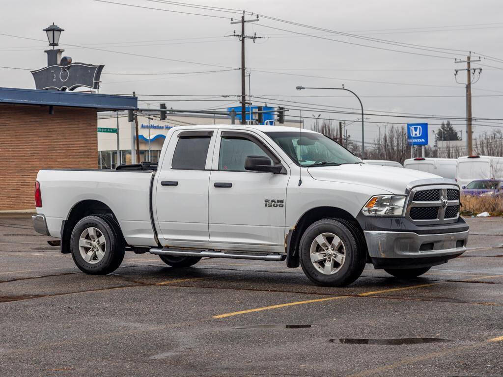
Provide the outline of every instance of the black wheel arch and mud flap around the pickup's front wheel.
[[348,228],[350,228],[350,230],[355,234],[359,247],[365,248],[365,252],[367,253],[367,260],[370,260],[363,229],[358,221],[353,217],[353,215],[351,215],[348,211],[343,210],[342,208],[321,206],[311,208],[310,210],[306,211],[297,220],[297,223],[292,228],[290,228],[286,242],[286,261],[288,267],[295,268],[299,266],[298,246],[300,243],[300,238],[302,237],[302,234],[304,234],[304,231],[307,229],[307,227],[318,220],[326,218],[337,219],[344,222],[345,225],[347,225]]

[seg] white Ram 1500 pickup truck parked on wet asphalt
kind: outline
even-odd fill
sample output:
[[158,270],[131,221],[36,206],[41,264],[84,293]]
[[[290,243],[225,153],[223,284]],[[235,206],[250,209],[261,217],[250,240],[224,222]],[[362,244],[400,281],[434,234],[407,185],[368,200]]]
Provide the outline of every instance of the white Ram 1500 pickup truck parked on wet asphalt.
[[130,250],[173,267],[286,259],[315,284],[345,286],[365,263],[421,275],[468,240],[453,180],[368,165],[289,127],[176,127],[158,164],[40,170],[35,202],[35,230],[91,274],[112,272]]

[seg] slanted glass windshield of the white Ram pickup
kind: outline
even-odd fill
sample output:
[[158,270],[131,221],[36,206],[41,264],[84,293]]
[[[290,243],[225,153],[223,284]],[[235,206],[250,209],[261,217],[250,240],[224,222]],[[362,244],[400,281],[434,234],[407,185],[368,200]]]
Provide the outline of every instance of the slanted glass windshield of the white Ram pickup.
[[342,165],[362,162],[332,139],[314,132],[267,132],[300,166]]

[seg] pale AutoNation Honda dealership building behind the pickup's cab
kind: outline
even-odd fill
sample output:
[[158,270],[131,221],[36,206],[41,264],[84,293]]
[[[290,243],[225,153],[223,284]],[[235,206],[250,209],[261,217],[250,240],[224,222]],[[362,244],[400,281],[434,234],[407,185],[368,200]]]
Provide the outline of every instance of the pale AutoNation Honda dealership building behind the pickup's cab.
[[[154,118],[153,114],[156,115]],[[149,119],[150,118],[150,119]],[[135,140],[127,112],[103,112],[98,114],[98,129],[117,128],[119,122],[120,164],[131,163],[131,144]],[[236,118],[236,123],[239,121]],[[172,127],[183,127],[204,124],[231,124],[230,117],[206,114],[168,114],[165,121],[158,118],[158,111],[150,117],[138,115],[138,138],[140,161],[157,162],[167,131]],[[236,126],[239,126],[236,124]],[[303,127],[298,119],[285,119],[280,126]],[[149,132],[150,131],[150,132]],[[149,143],[150,140],[150,151]],[[98,167],[115,169],[117,165],[117,135],[109,132],[98,132]]]

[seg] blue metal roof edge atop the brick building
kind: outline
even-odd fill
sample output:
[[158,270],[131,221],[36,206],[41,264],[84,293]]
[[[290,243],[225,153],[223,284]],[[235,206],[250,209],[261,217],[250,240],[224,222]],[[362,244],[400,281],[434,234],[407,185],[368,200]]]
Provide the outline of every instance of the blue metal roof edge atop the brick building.
[[99,93],[76,93],[0,87],[0,104],[67,106],[105,110],[134,110],[138,98]]

